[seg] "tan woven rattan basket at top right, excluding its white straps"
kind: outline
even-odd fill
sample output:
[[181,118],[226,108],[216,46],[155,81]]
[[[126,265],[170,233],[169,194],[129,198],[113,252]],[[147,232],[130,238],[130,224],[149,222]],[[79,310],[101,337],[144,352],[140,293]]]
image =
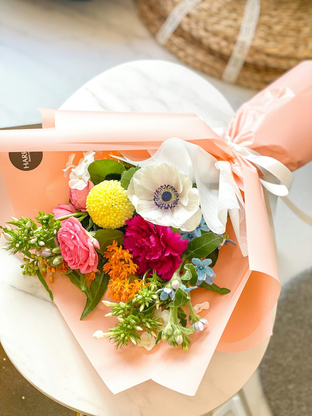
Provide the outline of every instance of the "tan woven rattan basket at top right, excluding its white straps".
[[[136,0],[141,20],[156,35],[179,0]],[[233,51],[246,0],[202,0],[166,42],[183,62],[220,78]],[[262,0],[255,36],[238,84],[262,88],[312,58],[312,0]]]

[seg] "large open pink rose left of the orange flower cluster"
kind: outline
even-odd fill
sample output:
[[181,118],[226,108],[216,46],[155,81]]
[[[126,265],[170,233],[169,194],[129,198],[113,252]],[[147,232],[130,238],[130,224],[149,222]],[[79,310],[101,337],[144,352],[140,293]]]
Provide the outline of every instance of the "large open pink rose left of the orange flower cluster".
[[77,218],[61,221],[57,239],[62,256],[72,270],[79,269],[83,274],[97,271],[99,258],[94,246],[99,248],[99,243],[91,238]]

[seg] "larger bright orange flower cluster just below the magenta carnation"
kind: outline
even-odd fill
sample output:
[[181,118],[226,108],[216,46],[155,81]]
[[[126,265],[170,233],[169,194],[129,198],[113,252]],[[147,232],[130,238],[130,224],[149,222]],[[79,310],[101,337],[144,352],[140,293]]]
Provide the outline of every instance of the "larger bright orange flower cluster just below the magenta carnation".
[[104,257],[108,262],[104,264],[103,270],[111,277],[107,286],[108,296],[117,302],[128,302],[129,299],[133,299],[145,282],[134,279],[138,266],[132,261],[132,254],[129,250],[124,250],[122,245],[118,247],[114,240],[113,244],[107,247]]

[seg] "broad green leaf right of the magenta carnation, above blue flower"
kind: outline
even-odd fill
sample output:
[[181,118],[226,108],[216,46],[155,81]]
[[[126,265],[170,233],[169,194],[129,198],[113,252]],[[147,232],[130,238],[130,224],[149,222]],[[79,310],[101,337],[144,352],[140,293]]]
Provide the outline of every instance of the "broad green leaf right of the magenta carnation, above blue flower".
[[215,233],[205,233],[201,237],[194,238],[188,243],[188,248],[186,249],[186,257],[188,260],[192,258],[203,258],[207,257],[213,250],[215,250],[218,245],[223,241],[222,235],[216,235]]

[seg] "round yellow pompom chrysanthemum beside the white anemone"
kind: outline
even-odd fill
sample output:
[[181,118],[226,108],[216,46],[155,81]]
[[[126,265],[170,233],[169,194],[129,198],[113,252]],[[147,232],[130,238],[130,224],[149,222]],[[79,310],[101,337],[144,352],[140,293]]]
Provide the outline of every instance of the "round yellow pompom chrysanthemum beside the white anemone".
[[134,206],[119,181],[103,181],[87,196],[86,209],[92,221],[102,228],[116,229],[133,217]]

